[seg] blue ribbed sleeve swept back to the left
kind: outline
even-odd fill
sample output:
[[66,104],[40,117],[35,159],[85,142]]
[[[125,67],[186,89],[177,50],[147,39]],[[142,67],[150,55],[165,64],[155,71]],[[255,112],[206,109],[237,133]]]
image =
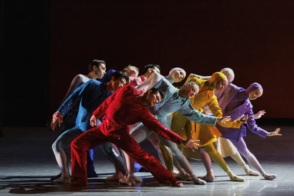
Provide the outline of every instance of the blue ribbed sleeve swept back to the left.
[[[100,82],[96,81],[94,83],[93,79],[89,80],[86,83],[83,83],[81,86],[79,86],[61,105],[61,107],[57,110],[59,113],[61,113],[63,116],[66,115],[66,113],[71,110],[71,108],[76,104],[76,102],[83,97],[83,95],[87,93],[91,93],[91,89],[93,89],[94,86],[97,86],[101,84]],[[99,85],[100,88],[95,89],[96,91],[101,91],[101,85]]]

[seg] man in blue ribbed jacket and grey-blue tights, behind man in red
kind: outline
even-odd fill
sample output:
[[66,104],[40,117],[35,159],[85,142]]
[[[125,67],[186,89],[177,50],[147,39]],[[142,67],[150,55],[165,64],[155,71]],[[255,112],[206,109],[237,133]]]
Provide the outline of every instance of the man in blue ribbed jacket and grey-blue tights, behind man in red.
[[[113,91],[123,87],[126,81],[128,81],[128,76],[120,71],[113,73],[111,81],[106,84],[102,84],[101,82],[91,79],[90,81],[78,87],[74,93],[72,93],[71,96],[69,96],[69,98],[67,98],[66,101],[61,105],[59,110],[54,113],[54,122],[57,119],[60,119],[62,122],[63,116],[78,100],[81,100],[76,118],[76,126],[61,134],[52,145],[57,163],[61,169],[61,177],[54,180],[54,182],[71,182],[64,148],[70,146],[72,140],[91,128],[90,118],[92,116],[92,112],[101,103],[103,103],[104,100],[111,96]],[[98,120],[98,125],[101,123],[100,120],[102,119],[100,118]],[[106,143],[106,146],[104,146],[103,149],[105,149],[109,156],[108,158],[110,158],[113,164],[124,170],[123,160],[119,155],[113,152],[111,143]]]

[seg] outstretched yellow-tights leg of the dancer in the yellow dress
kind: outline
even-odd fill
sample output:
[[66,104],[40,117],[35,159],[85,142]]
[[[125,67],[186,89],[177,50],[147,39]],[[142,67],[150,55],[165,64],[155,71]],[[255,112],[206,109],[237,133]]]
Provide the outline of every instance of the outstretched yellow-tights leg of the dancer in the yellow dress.
[[225,163],[225,160],[223,160],[223,157],[218,153],[216,148],[214,147],[213,143],[208,144],[205,146],[206,151],[211,155],[211,158],[216,162],[229,176],[230,180],[243,182],[245,181],[245,178],[238,177],[233,174],[233,172],[228,167],[227,163]]

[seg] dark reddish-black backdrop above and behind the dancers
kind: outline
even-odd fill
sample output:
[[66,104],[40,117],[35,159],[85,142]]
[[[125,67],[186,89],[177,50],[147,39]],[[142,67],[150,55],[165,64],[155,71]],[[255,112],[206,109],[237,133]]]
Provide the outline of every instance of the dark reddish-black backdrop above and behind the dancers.
[[293,35],[293,1],[3,0],[3,125],[46,126],[93,59],[140,73],[158,64],[164,76],[174,67],[202,76],[232,68],[235,85],[263,86],[254,112],[282,123],[294,118]]

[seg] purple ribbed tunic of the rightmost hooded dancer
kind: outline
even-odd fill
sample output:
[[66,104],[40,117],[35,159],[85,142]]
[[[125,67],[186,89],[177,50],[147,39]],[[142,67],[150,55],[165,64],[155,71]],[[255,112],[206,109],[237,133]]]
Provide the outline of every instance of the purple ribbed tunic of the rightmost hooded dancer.
[[[224,115],[231,116],[232,120],[236,120],[242,115],[251,116],[251,118],[249,118],[246,122],[247,128],[253,133],[265,138],[268,132],[259,128],[255,124],[250,100],[248,96],[244,99],[244,97],[248,94],[246,91],[247,89],[244,90],[243,88],[239,88],[232,83],[228,84],[223,91],[216,93],[220,108],[222,109]],[[241,125],[240,128],[225,128],[219,125],[216,125],[216,127],[222,134],[223,138],[231,141],[238,142],[243,136],[246,136],[246,128],[244,125]]]

